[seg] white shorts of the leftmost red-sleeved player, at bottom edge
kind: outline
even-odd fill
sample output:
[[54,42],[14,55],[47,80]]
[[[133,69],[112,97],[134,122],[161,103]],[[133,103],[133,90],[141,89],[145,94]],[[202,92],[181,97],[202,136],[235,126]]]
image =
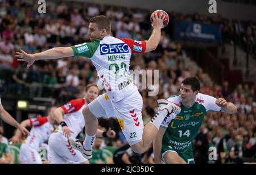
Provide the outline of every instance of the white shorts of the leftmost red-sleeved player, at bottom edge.
[[27,144],[22,144],[19,151],[21,164],[42,164],[42,159],[38,150],[31,148]]

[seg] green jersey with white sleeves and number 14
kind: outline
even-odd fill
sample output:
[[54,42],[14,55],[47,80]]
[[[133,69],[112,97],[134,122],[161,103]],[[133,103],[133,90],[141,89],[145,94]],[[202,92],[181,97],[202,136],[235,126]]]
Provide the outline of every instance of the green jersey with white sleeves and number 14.
[[191,147],[191,141],[199,133],[201,123],[208,110],[221,110],[221,107],[215,104],[216,98],[202,93],[197,94],[195,103],[190,108],[180,102],[180,95],[167,100],[179,104],[181,112],[164,118],[161,127],[167,130],[163,135],[162,143],[177,151],[187,150]]

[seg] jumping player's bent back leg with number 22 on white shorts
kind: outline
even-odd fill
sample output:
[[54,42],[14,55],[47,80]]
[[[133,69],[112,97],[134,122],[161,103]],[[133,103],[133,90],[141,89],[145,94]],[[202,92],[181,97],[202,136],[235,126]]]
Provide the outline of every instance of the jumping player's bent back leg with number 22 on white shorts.
[[[126,136],[133,151],[137,153],[143,153],[150,147],[164,117],[173,112],[180,112],[180,107],[170,101],[158,100],[158,113],[143,128],[142,104],[142,97],[138,91],[135,91],[121,102],[114,104],[115,116],[123,119],[125,127],[123,134]],[[136,138],[134,138],[134,134],[136,134]]]

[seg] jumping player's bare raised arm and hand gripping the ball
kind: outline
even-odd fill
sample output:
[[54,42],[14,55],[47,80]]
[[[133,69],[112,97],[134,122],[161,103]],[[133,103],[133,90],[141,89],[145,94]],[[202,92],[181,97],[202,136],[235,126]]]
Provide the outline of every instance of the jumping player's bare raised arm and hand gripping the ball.
[[163,13],[161,13],[159,16],[156,14],[156,12],[154,13],[153,22],[151,24],[154,29],[152,31],[150,38],[147,41],[145,41],[146,42],[145,52],[150,52],[152,50],[155,50],[156,47],[158,46],[160,42],[160,37],[161,37],[161,27],[163,24],[163,20],[164,20]]

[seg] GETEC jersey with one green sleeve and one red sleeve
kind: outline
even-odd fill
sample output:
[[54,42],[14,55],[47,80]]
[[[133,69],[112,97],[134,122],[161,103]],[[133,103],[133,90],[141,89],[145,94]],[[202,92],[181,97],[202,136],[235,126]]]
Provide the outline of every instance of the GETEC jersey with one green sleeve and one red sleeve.
[[146,42],[106,36],[71,48],[75,56],[92,60],[110,100],[122,100],[137,90],[130,76],[130,58],[131,53],[143,53]]

